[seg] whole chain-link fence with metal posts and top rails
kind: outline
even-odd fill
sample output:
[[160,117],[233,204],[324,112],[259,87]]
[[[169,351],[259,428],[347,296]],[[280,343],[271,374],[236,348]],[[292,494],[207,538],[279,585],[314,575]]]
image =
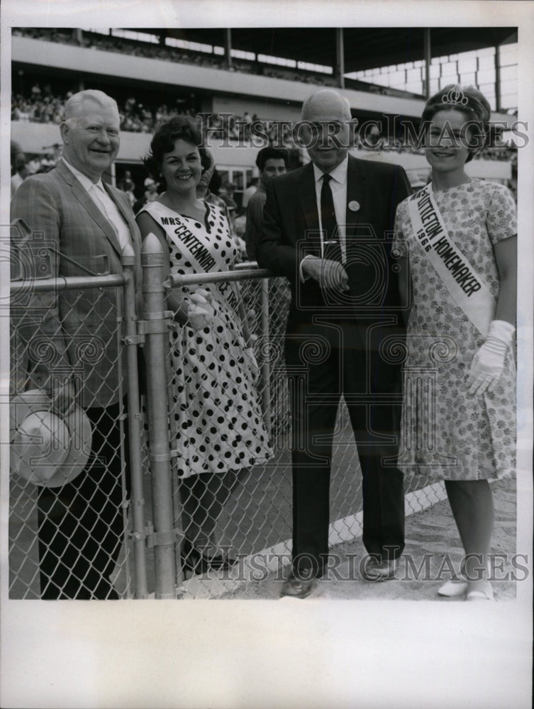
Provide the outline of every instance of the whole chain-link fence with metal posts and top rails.
[[[128,255],[123,262],[121,276],[14,275],[11,459],[25,459],[26,468],[11,474],[11,598],[231,598],[291,559],[287,281],[241,264],[164,284],[160,247],[148,238],[136,318],[132,262]],[[89,330],[91,317],[100,324]],[[57,451],[40,453],[46,460],[36,479],[39,460],[28,464],[20,448],[21,418],[46,407],[13,407],[13,400],[65,379],[64,352],[92,445],[79,440],[82,452],[70,468],[59,465],[72,480],[51,486],[45,468],[55,462],[57,470]],[[331,545],[362,531],[361,475],[343,403],[335,431]],[[28,437],[23,442],[28,447]],[[417,487],[407,486],[408,513],[443,498],[440,486],[418,480]]]

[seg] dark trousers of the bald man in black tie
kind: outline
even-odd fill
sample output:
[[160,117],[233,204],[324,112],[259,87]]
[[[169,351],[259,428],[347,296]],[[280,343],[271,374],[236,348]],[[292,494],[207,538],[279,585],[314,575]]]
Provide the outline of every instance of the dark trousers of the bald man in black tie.
[[[363,543],[383,560],[404,549],[404,484],[395,467],[401,413],[398,363],[367,351],[365,327],[338,322],[286,339],[293,425],[293,560],[321,576],[328,559],[330,467],[340,398],[360,459]],[[393,460],[391,460],[393,459]],[[384,464],[386,463],[386,464]]]

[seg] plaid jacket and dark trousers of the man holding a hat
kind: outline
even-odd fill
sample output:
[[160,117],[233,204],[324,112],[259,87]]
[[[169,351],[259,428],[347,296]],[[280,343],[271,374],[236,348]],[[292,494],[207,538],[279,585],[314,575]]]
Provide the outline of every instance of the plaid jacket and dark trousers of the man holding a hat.
[[[140,233],[128,198],[105,185],[130,231],[140,282]],[[46,245],[53,276],[83,276],[107,267],[122,272],[116,230],[69,168],[60,162],[47,174],[26,179],[11,203],[11,218],[21,218]],[[54,357],[30,361],[32,381],[48,388],[50,375],[74,374],[77,401],[93,428],[87,467],[61,488],[41,488],[38,537],[41,598],[117,598],[109,574],[123,537],[121,461],[121,386],[117,300],[113,289],[79,289],[43,294],[43,314],[19,331],[28,351],[46,341]],[[32,358],[30,357],[30,360]],[[122,379],[122,381],[121,381]],[[126,429],[126,426],[125,426]],[[128,447],[124,442],[126,456]],[[128,466],[126,467],[128,486]]]

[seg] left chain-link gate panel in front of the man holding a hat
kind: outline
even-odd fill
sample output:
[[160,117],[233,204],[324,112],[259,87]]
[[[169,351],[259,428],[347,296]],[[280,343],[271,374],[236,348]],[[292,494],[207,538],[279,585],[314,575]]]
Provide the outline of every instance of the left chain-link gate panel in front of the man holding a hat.
[[[103,412],[107,406],[113,407],[109,409],[113,411],[109,435],[104,433],[99,440],[99,450],[93,446],[91,452],[87,451],[85,469],[90,467],[91,473],[86,475],[84,471],[79,479],[81,481],[90,476],[101,476],[101,484],[92,487],[80,485],[75,501],[67,503],[67,487],[79,481],[49,487],[35,485],[33,481],[16,473],[11,475],[9,587],[12,598],[69,598],[69,593],[73,593],[68,590],[72,584],[82,594],[77,597],[90,597],[89,588],[94,589],[100,582],[104,586],[109,584],[107,577],[111,562],[114,566],[120,566],[118,572],[125,579],[120,595],[128,597],[135,593],[130,554],[122,554],[120,562],[116,558],[128,523],[126,476],[128,479],[131,476],[135,489],[140,487],[141,476],[140,457],[135,447],[126,469],[126,391],[129,393],[129,423],[134,422],[134,433],[135,421],[139,420],[133,386],[137,379],[135,352],[128,354],[131,367],[127,375],[121,342],[123,323],[126,323],[126,328],[135,328],[135,298],[131,299],[131,282],[126,253],[125,272],[122,275],[24,279],[11,283],[11,401],[17,401],[16,397],[26,392],[26,401],[33,406],[32,396],[35,396],[37,402],[39,390],[50,391],[52,384],[72,377],[77,389],[77,403],[87,411],[89,417],[91,412],[102,412],[96,413],[99,418],[91,421],[93,431],[100,417],[105,415]],[[123,289],[126,289],[126,293],[129,290],[130,298],[123,298]],[[59,294],[62,294],[62,313],[57,306]],[[123,311],[125,303],[126,314]],[[52,312],[50,308],[57,311],[55,315],[58,323],[52,335],[50,328],[44,325],[47,314]],[[84,312],[89,316],[96,311],[102,313],[101,321],[105,327],[100,332],[89,333],[84,320],[74,313]],[[112,329],[109,329],[110,322],[114,323]],[[62,357],[64,352],[68,353],[68,367]],[[100,372],[98,375],[97,370]],[[130,381],[126,381],[127,376]],[[24,408],[21,404],[18,406]],[[17,405],[11,403],[10,413],[15,419],[16,408]],[[13,422],[13,428],[16,428],[16,421]],[[48,431],[43,430],[43,435],[46,434]],[[50,445],[54,445],[53,442]],[[85,442],[82,445],[86,445]],[[48,457],[49,453],[45,451],[43,458]],[[30,460],[30,464],[35,465],[38,471],[39,459]],[[120,472],[111,473],[112,467],[113,471]],[[110,521],[96,532],[101,513],[99,508],[109,510],[106,519]],[[96,535],[95,547],[91,549],[88,544],[84,546],[91,536],[89,530]],[[63,535],[65,540],[61,538]],[[108,537],[107,545],[100,547],[98,540],[104,537]],[[60,547],[62,551],[69,547],[63,559],[57,556]],[[104,548],[111,549],[109,558],[106,558],[108,552],[104,552]],[[72,564],[71,576],[74,579],[67,579],[68,569],[59,569],[68,564]],[[143,562],[137,564],[139,569],[143,566]],[[89,581],[92,574],[101,576],[101,579]],[[48,585],[57,588],[50,592],[52,596],[43,596],[43,587]],[[135,586],[143,588],[142,581]],[[109,594],[100,593],[104,593],[104,597],[115,597],[111,586],[109,588]]]

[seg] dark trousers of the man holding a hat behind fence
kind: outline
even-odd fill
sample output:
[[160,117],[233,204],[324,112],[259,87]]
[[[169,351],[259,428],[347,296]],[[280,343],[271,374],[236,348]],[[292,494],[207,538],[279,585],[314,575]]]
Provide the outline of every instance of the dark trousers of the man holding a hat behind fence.
[[118,598],[109,576],[121,550],[123,506],[130,493],[128,426],[125,420],[121,459],[118,403],[86,413],[93,430],[87,467],[72,482],[38,495],[40,586],[46,600]]

